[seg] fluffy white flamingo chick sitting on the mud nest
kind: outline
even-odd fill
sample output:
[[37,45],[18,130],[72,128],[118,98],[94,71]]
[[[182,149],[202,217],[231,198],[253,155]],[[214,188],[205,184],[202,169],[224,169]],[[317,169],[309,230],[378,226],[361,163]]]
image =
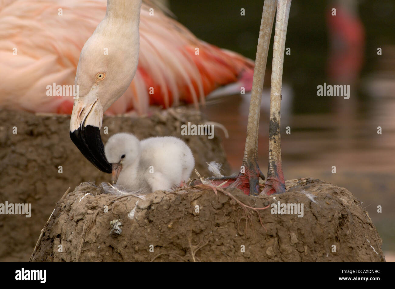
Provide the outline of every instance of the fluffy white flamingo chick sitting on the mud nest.
[[187,181],[195,166],[191,149],[174,136],[140,141],[121,132],[109,138],[104,153],[113,166],[113,183],[132,190],[170,190]]

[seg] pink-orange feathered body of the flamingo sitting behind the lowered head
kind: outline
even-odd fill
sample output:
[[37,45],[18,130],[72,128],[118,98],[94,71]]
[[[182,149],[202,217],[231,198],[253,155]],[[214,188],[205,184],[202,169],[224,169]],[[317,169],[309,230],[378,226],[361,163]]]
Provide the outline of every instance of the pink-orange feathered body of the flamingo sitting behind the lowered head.
[[[46,86],[74,84],[81,48],[103,19],[106,1],[2,0],[0,5],[0,107],[70,114],[73,98],[49,97]],[[251,86],[254,62],[197,39],[156,7],[150,15],[150,8],[141,8],[134,80],[106,114],[146,114],[149,105],[197,105],[220,86],[237,81]]]

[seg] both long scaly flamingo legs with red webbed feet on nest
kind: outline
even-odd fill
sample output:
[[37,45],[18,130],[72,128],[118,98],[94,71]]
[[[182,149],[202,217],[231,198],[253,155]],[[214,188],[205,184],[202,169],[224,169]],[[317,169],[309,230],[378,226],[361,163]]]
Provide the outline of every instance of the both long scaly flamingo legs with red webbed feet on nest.
[[258,130],[263,78],[265,76],[267,54],[269,51],[276,6],[277,16],[270,89],[269,166],[265,188],[261,194],[269,195],[285,192],[285,179],[281,164],[280,108],[285,39],[291,0],[265,0],[263,6],[254,68],[254,80],[252,82],[250,109],[248,113],[247,137],[241,171],[237,178],[211,178],[213,185],[221,185],[224,188],[237,187],[243,190],[245,194],[252,196],[260,194],[259,178],[265,179],[265,176],[258,166]]

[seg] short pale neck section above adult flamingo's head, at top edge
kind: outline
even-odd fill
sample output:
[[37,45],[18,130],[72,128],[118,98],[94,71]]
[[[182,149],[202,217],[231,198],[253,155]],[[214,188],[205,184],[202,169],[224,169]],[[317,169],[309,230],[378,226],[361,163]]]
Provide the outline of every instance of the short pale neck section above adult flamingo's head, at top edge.
[[107,0],[106,18],[137,21],[140,20],[141,0]]

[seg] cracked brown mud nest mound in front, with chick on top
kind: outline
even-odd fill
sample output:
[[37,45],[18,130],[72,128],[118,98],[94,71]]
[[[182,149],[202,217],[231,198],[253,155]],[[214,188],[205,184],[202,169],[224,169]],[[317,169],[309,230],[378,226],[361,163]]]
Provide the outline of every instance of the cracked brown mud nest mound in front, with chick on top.
[[[348,190],[312,179],[286,186],[274,196],[201,185],[142,199],[83,183],[58,201],[30,260],[385,261]],[[303,216],[273,214],[278,201],[303,204]]]

